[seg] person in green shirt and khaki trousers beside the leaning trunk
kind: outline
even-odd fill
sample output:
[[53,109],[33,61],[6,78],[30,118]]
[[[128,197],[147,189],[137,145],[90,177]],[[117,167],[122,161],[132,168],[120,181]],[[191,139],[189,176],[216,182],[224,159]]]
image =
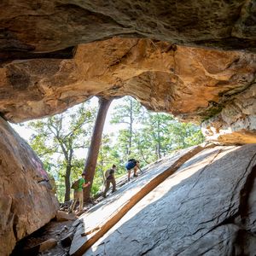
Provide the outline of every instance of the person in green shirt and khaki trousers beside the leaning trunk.
[[90,182],[86,183],[85,182],[85,173],[81,174],[82,177],[80,177],[78,180],[76,180],[71,188],[74,189],[73,191],[73,202],[71,204],[71,207],[69,209],[68,213],[73,212],[73,209],[77,203],[77,201],[79,201],[79,212],[81,212],[84,208],[84,192],[83,189],[87,186],[90,185]]

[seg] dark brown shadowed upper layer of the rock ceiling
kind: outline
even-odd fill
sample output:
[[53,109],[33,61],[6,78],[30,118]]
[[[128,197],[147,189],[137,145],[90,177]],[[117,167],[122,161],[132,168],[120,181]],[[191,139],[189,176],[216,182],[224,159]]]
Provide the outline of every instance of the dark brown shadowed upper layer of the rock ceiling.
[[0,56],[3,61],[34,53],[72,55],[72,46],[113,36],[255,50],[255,8],[253,0],[5,0]]

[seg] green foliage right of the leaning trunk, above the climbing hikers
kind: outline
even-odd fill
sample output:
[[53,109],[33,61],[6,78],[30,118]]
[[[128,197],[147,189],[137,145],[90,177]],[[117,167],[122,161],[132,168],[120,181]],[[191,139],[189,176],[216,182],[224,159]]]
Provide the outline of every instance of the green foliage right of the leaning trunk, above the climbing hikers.
[[125,103],[117,106],[113,113],[113,123],[127,125],[119,130],[117,143],[112,147],[118,148],[122,166],[128,158],[138,159],[141,166],[145,166],[173,150],[204,141],[198,126],[180,123],[167,113],[148,112],[138,102],[131,108],[133,101],[125,97]]

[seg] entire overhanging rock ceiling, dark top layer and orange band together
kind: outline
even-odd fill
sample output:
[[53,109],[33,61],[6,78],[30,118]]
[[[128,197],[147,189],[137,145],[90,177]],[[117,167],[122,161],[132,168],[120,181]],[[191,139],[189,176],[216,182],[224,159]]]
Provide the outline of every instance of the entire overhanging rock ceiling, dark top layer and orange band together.
[[255,8],[238,0],[5,0],[0,113],[21,122],[91,96],[130,95],[154,111],[207,120],[210,137],[231,126],[254,137]]

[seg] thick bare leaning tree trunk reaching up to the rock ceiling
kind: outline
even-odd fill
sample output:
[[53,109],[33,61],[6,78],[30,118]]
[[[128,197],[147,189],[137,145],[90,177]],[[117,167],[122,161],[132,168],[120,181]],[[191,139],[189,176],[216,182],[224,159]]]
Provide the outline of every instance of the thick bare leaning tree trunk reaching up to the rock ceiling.
[[99,98],[100,107],[96,116],[96,122],[90,140],[90,148],[88,150],[87,160],[84,166],[85,180],[86,182],[90,181],[90,186],[84,189],[84,201],[87,202],[90,201],[90,188],[96,171],[97,158],[102,142],[102,131],[108,113],[108,108],[112,101],[113,98]]

